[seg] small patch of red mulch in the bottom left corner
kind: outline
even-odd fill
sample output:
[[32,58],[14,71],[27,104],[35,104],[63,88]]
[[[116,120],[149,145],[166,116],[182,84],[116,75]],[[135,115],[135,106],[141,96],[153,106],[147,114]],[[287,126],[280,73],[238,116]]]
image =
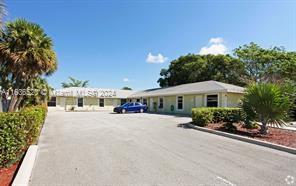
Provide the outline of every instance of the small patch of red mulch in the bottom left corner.
[[7,168],[0,168],[0,185],[8,186],[12,184],[13,178],[16,174],[18,166],[21,161],[18,161]]

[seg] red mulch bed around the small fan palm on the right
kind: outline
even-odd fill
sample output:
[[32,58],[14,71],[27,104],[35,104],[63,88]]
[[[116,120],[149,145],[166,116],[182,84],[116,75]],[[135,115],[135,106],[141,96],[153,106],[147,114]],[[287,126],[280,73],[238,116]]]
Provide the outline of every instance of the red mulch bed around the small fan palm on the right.
[[[269,127],[268,134],[261,135],[259,133],[259,128],[246,129],[246,128],[243,128],[241,124],[234,124],[234,125],[237,127],[237,132],[234,132],[233,134],[238,134],[241,136],[246,136],[246,137],[254,138],[257,140],[267,141],[270,143],[275,143],[275,144],[279,144],[287,147],[296,148],[296,131]],[[206,128],[228,132],[224,130],[223,123],[211,123]]]

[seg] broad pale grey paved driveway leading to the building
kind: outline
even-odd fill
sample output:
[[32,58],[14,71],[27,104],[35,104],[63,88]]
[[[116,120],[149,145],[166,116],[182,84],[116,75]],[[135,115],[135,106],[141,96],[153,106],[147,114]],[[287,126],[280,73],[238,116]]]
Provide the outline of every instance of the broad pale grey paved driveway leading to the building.
[[49,112],[30,184],[249,186],[296,179],[295,155],[178,127],[190,120]]

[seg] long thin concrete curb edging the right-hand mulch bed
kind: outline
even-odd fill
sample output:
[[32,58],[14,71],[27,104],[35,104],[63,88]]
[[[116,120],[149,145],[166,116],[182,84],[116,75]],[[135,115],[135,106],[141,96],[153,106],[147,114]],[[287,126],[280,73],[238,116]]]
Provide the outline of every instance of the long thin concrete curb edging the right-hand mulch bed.
[[190,127],[190,128],[193,128],[193,129],[196,129],[196,130],[199,130],[199,131],[208,132],[208,133],[212,133],[212,134],[216,134],[216,135],[219,135],[219,136],[224,136],[224,137],[228,137],[228,138],[232,138],[232,139],[237,139],[237,140],[244,141],[244,142],[247,142],[247,143],[261,145],[261,146],[264,146],[264,147],[268,147],[268,148],[272,148],[272,149],[276,149],[276,150],[280,150],[280,151],[284,151],[284,152],[288,152],[288,153],[296,155],[296,149],[295,148],[285,147],[283,145],[277,145],[277,144],[270,143],[270,142],[264,142],[264,141],[244,137],[244,136],[239,136],[239,135],[236,135],[236,134],[230,134],[230,133],[226,133],[226,132],[207,129],[207,128],[204,128],[204,127],[199,127],[199,126],[192,125],[190,123],[188,123],[186,125],[188,127]]

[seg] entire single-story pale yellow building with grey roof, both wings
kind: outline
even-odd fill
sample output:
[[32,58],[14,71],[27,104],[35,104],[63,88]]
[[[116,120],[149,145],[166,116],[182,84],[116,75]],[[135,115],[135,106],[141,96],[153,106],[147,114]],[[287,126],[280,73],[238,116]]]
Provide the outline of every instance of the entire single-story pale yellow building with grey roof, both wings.
[[243,93],[243,87],[217,81],[138,92],[72,87],[54,91],[48,106],[61,110],[112,110],[125,102],[141,102],[150,112],[190,114],[194,107],[237,107]]

